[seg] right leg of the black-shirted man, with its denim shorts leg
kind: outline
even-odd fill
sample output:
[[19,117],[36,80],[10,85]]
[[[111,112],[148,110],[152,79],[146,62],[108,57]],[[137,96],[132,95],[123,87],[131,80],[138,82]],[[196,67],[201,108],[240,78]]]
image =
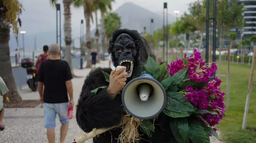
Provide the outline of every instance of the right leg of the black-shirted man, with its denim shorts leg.
[[59,121],[61,122],[61,134],[60,134],[60,141],[59,143],[64,143],[65,137],[68,132],[68,106],[69,103],[59,103],[58,104],[58,110],[56,110],[57,114],[59,115]]

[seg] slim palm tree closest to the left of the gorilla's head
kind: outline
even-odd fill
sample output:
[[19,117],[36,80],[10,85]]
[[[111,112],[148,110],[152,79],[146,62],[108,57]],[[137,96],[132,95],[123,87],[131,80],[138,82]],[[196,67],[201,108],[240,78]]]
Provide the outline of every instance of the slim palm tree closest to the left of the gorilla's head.
[[[107,9],[112,10],[111,2],[114,0],[99,0],[98,8],[101,11],[101,43],[103,47],[103,61],[105,60],[105,52],[106,52],[106,30],[105,30],[105,13],[107,13]],[[112,31],[113,32],[113,31]]]

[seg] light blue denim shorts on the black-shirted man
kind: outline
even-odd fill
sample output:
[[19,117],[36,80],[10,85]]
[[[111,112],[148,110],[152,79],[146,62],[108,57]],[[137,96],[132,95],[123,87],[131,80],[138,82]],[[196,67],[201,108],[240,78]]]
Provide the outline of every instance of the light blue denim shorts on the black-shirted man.
[[56,114],[61,124],[69,124],[68,119],[69,103],[44,103],[44,128],[55,128]]

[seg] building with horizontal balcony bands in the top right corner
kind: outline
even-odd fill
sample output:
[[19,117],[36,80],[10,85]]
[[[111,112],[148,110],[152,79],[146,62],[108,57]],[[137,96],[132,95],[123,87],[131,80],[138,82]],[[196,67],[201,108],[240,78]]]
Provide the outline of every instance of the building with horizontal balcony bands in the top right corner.
[[252,35],[256,35],[256,0],[239,0],[238,3],[243,3],[244,20],[243,39],[248,39]]

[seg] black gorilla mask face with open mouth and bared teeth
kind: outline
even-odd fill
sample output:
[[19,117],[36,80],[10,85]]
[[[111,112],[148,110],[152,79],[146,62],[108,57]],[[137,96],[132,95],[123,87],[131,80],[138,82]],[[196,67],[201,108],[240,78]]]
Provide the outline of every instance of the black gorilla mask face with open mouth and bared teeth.
[[114,66],[125,66],[126,72],[128,73],[126,77],[131,77],[134,61],[137,60],[136,55],[139,41],[134,40],[126,33],[122,33],[116,38],[114,43],[110,44],[110,47],[112,47],[112,53],[114,53],[114,55],[112,55]]

